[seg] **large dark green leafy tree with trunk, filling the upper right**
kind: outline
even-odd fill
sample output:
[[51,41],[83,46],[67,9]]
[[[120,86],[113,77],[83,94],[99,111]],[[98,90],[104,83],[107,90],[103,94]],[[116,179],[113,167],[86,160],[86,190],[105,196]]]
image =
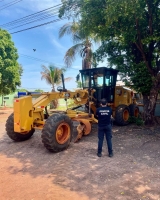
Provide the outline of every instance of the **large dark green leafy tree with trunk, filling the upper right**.
[[[130,77],[146,77],[149,96],[146,95],[144,102],[145,122],[153,124],[160,89],[159,0],[63,1],[60,14],[69,11],[80,15],[80,24],[86,32],[97,34],[104,41],[103,56],[109,55],[111,64],[116,57],[116,67],[121,64]],[[137,83],[135,80],[132,79],[133,84]],[[139,81],[139,88],[141,84]]]

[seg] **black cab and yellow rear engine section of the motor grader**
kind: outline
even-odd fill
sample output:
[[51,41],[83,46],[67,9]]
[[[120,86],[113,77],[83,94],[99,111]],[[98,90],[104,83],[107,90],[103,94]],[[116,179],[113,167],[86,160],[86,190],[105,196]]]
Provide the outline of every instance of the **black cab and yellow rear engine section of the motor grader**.
[[[118,70],[100,67],[80,70],[80,73],[83,89],[88,89],[90,94],[86,107],[95,117],[102,98],[105,98],[112,108],[118,125],[127,125],[130,116],[138,117],[139,108],[133,91],[124,86],[116,86]],[[91,91],[94,91],[93,95]]]

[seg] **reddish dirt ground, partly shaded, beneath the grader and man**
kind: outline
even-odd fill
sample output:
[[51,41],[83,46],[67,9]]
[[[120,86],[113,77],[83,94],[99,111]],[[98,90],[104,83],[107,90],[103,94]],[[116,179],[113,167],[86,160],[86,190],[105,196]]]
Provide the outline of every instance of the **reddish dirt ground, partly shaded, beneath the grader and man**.
[[25,142],[5,132],[0,110],[0,200],[160,200],[160,127],[113,126],[114,157],[98,158],[97,126],[79,143],[50,153],[36,131]]

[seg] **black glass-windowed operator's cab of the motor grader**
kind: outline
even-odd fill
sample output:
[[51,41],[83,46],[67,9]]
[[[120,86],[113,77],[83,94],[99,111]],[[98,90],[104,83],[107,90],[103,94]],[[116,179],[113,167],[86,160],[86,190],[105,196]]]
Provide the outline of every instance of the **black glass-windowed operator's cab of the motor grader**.
[[80,70],[80,73],[83,89],[95,90],[92,100],[96,107],[100,106],[102,98],[107,99],[108,103],[114,102],[118,70],[101,67]]

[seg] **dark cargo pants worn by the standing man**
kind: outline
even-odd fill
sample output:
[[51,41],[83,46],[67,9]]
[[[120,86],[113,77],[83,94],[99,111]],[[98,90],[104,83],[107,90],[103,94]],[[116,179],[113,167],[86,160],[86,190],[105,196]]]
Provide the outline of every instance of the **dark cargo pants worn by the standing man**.
[[104,135],[106,137],[107,146],[108,146],[108,153],[112,153],[112,129],[111,125],[107,125],[104,127],[98,127],[98,153],[102,153],[102,146]]

